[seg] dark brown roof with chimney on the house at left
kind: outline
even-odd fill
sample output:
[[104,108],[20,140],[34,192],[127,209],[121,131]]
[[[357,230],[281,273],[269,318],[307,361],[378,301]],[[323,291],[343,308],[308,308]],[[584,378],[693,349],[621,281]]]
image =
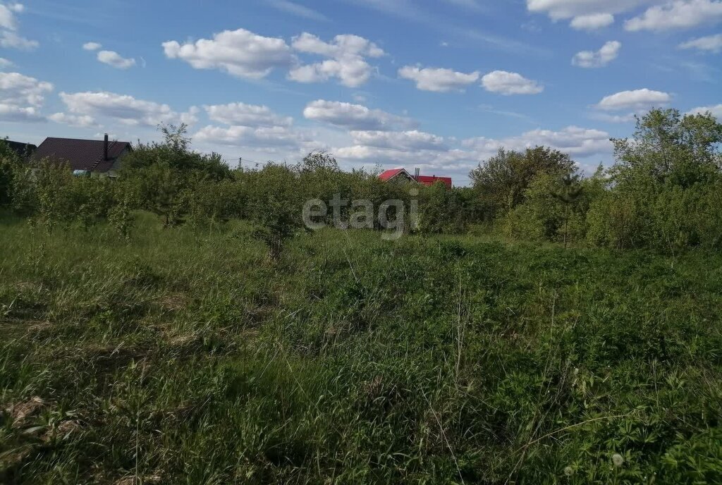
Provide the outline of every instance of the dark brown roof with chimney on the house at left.
[[72,170],[107,172],[126,149],[131,149],[131,144],[127,141],[109,141],[108,160],[103,160],[103,143],[103,140],[46,138],[35,150],[32,158],[41,160],[49,157],[52,160],[68,162]]

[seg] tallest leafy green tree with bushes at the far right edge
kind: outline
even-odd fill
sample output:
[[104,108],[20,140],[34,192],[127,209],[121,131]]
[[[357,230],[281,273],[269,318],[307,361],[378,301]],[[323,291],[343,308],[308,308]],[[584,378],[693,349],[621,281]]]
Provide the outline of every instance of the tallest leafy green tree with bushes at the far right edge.
[[719,151],[722,124],[712,115],[652,110],[632,140],[614,140],[611,187],[591,204],[591,243],[670,253],[722,240]]

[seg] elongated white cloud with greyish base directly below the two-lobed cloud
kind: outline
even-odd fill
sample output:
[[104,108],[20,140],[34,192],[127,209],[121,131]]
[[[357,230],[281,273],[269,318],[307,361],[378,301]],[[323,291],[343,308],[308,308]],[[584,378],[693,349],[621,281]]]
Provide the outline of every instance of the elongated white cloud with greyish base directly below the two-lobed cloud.
[[308,103],[303,116],[313,121],[323,121],[350,130],[389,131],[398,127],[412,126],[413,122],[403,116],[382,110],[371,110],[363,105],[349,102],[316,100]]

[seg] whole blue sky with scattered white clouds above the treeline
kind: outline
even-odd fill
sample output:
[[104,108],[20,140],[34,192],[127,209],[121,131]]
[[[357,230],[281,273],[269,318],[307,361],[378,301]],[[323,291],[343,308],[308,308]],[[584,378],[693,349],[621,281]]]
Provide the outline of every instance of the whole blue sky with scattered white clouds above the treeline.
[[505,146],[591,169],[632,115],[722,118],[722,1],[0,2],[0,134],[157,139],[235,164],[326,149],[457,184]]

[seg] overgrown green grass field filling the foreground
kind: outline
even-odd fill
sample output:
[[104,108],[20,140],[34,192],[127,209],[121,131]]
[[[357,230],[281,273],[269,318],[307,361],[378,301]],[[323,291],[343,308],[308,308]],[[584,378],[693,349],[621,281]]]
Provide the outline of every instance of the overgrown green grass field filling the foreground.
[[0,483],[722,482],[722,256],[0,219]]

